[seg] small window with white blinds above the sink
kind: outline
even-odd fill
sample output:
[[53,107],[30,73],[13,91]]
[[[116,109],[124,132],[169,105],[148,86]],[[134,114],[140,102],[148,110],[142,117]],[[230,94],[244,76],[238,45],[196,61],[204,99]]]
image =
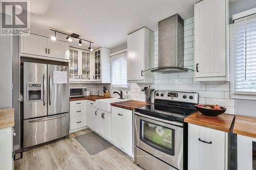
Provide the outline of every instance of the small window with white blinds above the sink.
[[127,83],[127,53],[119,53],[111,57],[111,88],[129,89]]

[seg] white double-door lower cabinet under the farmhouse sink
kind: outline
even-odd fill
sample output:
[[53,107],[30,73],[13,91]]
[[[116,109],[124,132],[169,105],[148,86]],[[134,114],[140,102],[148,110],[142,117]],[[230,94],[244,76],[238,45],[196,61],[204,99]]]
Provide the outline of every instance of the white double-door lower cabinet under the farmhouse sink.
[[96,122],[97,132],[111,141],[111,112],[98,109]]

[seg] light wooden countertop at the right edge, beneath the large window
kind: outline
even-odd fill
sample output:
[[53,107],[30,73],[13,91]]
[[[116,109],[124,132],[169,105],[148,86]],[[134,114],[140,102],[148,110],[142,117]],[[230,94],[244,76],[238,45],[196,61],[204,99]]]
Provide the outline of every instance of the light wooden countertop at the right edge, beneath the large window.
[[233,133],[256,138],[256,117],[237,115]]

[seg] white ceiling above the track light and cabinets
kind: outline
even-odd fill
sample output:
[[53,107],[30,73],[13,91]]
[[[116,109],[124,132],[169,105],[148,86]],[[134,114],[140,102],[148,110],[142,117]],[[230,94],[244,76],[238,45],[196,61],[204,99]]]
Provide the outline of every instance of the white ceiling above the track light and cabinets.
[[[194,16],[198,0],[33,0],[31,32],[49,27],[76,33],[94,41],[93,47],[115,48],[127,34],[147,27],[158,30],[158,21],[179,13]],[[75,41],[75,43],[77,43]]]

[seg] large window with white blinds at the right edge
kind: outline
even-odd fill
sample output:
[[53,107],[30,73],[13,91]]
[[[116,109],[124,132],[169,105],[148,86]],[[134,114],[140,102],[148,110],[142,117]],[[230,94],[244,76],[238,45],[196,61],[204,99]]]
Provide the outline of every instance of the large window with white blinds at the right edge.
[[256,14],[234,20],[230,44],[231,96],[256,100]]

